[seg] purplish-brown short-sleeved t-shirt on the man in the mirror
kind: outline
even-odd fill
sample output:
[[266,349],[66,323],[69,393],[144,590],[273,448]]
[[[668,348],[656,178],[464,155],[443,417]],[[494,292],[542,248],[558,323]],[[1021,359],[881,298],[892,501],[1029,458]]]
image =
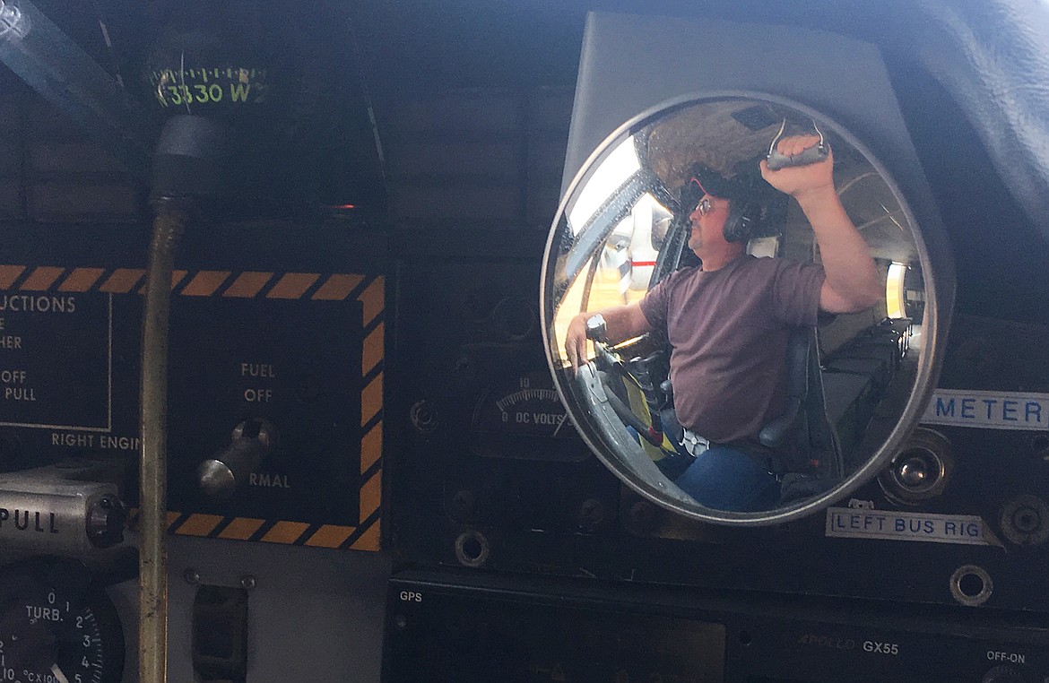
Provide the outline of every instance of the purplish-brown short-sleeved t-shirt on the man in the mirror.
[[754,436],[784,405],[791,325],[815,325],[823,269],[743,255],[718,271],[682,269],[641,311],[665,329],[678,420],[724,443]]

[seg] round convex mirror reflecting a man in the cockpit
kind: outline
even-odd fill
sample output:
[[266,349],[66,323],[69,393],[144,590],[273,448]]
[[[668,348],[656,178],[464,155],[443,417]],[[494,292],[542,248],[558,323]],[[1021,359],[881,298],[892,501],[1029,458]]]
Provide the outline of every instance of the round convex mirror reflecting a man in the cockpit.
[[640,494],[785,521],[874,477],[917,420],[928,262],[903,195],[840,126],[769,95],[676,102],[624,124],[561,201],[548,359]]

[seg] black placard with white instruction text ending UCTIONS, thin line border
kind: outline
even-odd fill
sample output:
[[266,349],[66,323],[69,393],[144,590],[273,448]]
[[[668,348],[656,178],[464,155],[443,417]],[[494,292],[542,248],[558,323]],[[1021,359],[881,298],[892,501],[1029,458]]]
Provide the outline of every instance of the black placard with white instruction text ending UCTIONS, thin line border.
[[107,431],[111,295],[0,294],[0,426]]

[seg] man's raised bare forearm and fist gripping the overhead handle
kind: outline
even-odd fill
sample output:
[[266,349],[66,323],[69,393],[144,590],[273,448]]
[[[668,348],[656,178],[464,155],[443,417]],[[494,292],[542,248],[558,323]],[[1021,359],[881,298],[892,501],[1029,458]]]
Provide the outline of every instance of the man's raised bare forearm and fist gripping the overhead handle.
[[[815,145],[815,135],[784,137],[777,149],[792,156]],[[834,157],[808,166],[770,171],[763,161],[762,176],[780,192],[794,197],[812,225],[819,244],[827,279],[819,292],[819,307],[828,313],[854,313],[884,298],[884,282],[871,258],[863,237],[845,213],[834,188]]]

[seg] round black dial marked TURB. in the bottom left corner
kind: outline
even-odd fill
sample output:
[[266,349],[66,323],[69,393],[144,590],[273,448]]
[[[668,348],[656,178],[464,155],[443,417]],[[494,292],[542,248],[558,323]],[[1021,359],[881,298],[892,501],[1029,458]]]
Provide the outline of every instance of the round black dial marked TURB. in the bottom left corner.
[[119,683],[124,634],[82,565],[33,560],[0,570],[0,681]]

